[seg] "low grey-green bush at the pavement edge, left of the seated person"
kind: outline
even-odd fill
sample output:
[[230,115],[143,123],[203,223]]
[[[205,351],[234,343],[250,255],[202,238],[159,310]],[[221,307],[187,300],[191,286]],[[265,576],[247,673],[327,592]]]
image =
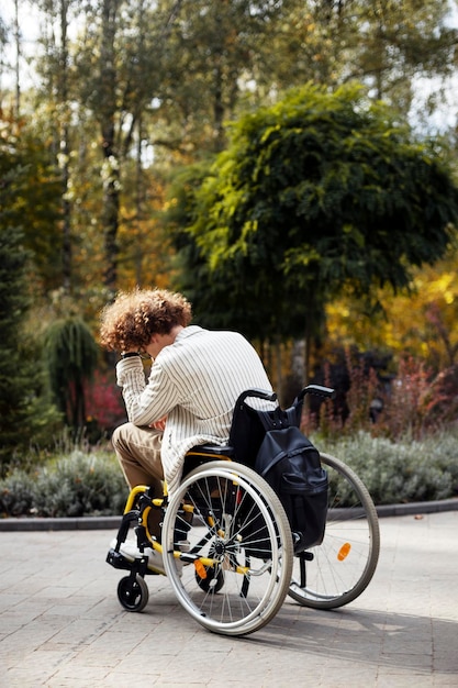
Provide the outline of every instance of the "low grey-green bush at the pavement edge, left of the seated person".
[[3,517],[116,515],[123,512],[127,487],[118,462],[102,452],[48,462],[33,474],[12,473],[0,481]]

